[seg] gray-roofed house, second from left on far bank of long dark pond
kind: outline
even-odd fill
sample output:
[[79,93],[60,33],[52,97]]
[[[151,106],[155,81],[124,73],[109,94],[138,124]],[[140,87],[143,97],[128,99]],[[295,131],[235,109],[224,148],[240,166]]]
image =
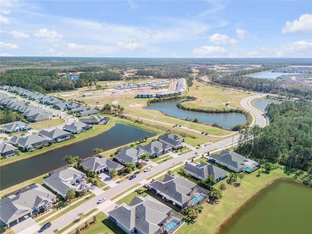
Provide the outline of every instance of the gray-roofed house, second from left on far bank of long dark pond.
[[20,148],[27,151],[34,151],[49,144],[49,140],[37,135],[29,135],[27,137],[14,136],[10,139],[10,142],[13,145],[18,144]]

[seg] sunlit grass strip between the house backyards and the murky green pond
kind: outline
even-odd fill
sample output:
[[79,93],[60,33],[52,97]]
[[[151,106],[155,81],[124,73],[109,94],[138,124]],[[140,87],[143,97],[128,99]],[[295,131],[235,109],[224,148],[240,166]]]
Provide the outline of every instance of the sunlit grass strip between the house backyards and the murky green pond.
[[[271,171],[270,174],[262,173],[257,177],[257,172],[246,174],[240,186],[227,184],[225,180],[218,182],[224,183],[227,187],[223,191],[223,197],[216,203],[204,203],[201,214],[198,215],[195,224],[183,224],[176,234],[190,233],[215,233],[218,227],[234,213],[236,209],[244,204],[250,197],[261,190],[264,186],[278,178],[292,178],[293,175],[286,175],[282,169]],[[239,182],[239,180],[238,180]]]

